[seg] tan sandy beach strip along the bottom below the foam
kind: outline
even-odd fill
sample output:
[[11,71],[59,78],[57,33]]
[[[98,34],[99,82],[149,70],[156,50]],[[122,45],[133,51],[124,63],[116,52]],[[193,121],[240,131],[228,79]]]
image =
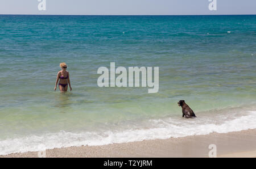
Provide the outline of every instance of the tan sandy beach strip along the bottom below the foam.
[[[201,136],[114,143],[102,146],[46,150],[46,157],[209,157],[210,144],[217,157],[256,157],[256,129]],[[0,157],[38,157],[38,151]]]

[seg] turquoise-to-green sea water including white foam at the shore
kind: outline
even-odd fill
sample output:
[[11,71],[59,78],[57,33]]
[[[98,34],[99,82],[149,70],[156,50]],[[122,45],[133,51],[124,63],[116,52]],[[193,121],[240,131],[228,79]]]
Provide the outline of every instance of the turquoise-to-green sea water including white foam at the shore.
[[[0,15],[0,27],[0,154],[256,128],[256,15]],[[159,91],[98,87],[110,62],[158,66]]]

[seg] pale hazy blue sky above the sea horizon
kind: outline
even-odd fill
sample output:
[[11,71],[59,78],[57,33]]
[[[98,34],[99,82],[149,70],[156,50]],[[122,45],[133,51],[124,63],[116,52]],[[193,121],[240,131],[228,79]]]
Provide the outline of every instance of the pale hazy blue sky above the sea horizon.
[[256,0],[216,0],[217,10],[208,9],[209,0],[0,0],[0,14],[42,15],[225,15],[256,14]]

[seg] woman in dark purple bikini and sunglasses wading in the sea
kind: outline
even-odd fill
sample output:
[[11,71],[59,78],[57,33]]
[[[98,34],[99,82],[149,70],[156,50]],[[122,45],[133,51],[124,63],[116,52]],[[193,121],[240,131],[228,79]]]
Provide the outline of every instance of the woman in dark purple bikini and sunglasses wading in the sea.
[[67,64],[61,63],[60,67],[62,70],[59,71],[57,74],[54,91],[56,91],[57,83],[59,82],[59,80],[60,80],[59,88],[61,92],[67,91],[68,85],[69,85],[70,91],[72,91],[72,87],[70,85],[70,80],[69,80],[69,72],[67,71]]

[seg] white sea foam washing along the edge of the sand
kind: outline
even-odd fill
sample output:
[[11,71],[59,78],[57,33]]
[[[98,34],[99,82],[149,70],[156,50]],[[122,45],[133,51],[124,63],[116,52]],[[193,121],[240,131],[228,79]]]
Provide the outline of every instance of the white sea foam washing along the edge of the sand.
[[142,140],[166,139],[209,134],[212,132],[227,133],[256,128],[256,111],[248,111],[246,115],[236,119],[226,119],[215,122],[211,118],[197,117],[196,119],[155,119],[149,120],[150,128],[126,129],[105,132],[59,133],[43,134],[0,141],[0,155],[23,153],[27,151],[43,151],[69,146],[106,145],[110,143],[133,142]]

